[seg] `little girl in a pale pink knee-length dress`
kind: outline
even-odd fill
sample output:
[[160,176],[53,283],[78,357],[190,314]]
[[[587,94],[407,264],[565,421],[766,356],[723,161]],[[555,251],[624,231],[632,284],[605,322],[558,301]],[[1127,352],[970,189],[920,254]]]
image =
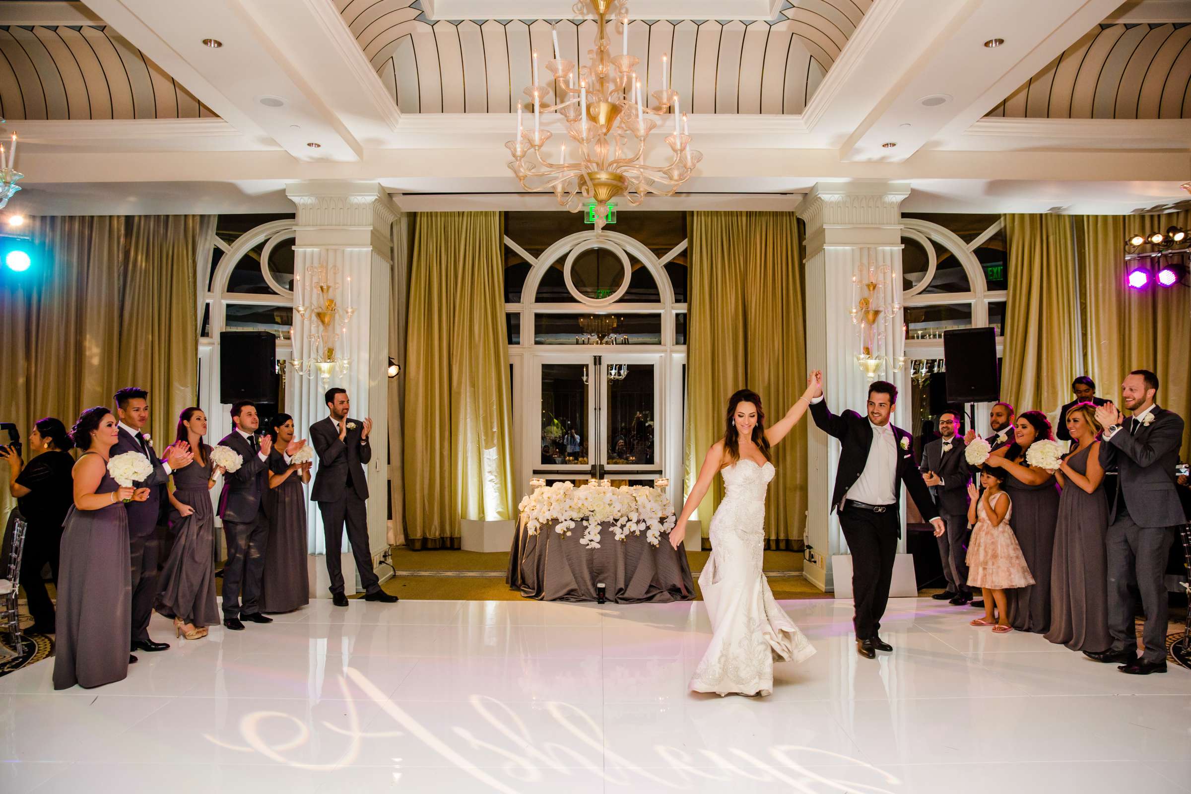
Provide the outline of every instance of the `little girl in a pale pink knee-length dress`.
[[1014,505],[1009,494],[1000,489],[1004,479],[1004,469],[986,465],[980,469],[983,492],[978,493],[974,484],[968,484],[968,495],[972,496],[968,520],[975,526],[968,542],[967,581],[969,587],[984,590],[984,617],[973,620],[972,625],[992,626],[998,634],[1014,630],[1005,608],[1005,590],[1034,583],[1022,549],[1009,526]]

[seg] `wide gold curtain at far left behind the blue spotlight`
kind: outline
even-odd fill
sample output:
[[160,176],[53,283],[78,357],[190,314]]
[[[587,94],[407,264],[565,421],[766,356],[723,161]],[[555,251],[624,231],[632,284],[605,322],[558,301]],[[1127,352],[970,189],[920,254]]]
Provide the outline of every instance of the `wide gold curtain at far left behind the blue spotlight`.
[[44,217],[30,231],[33,267],[0,275],[0,417],[27,438],[42,417],[69,429],[139,386],[164,449],[195,399],[195,254],[214,215]]

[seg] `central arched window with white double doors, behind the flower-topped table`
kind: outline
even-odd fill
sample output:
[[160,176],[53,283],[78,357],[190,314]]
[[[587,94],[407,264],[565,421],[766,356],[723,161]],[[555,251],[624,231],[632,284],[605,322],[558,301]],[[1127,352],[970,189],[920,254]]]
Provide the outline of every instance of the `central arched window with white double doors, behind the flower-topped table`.
[[685,214],[625,213],[600,232],[573,231],[574,218],[509,213],[506,224],[518,479],[679,482]]

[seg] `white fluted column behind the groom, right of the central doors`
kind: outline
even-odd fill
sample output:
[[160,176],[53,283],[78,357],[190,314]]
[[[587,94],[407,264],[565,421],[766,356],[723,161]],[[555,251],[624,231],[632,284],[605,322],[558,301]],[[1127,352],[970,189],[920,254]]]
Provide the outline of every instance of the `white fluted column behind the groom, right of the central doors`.
[[[852,408],[862,414],[868,396],[869,381],[856,364],[860,350],[849,313],[856,265],[890,265],[896,274],[892,301],[902,302],[900,204],[909,193],[910,186],[904,183],[821,182],[798,207],[806,223],[806,362],[809,368],[823,370],[828,405],[835,413]],[[900,329],[902,323],[899,312],[893,327]],[[904,394],[893,415],[893,424],[903,427],[910,407],[908,375],[886,371],[878,376]],[[803,570],[816,587],[833,590],[831,556],[848,554],[840,521],[830,513],[840,444],[816,427],[807,436],[805,540],[815,563],[805,563]]]

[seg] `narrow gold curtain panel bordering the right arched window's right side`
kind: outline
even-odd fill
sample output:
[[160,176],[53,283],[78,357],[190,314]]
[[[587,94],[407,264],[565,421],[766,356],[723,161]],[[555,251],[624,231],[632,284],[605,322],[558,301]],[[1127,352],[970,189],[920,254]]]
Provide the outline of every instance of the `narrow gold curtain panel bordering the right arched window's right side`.
[[1000,396],[1018,412],[1053,413],[1078,367],[1075,251],[1067,215],[1005,215],[1009,255]]

